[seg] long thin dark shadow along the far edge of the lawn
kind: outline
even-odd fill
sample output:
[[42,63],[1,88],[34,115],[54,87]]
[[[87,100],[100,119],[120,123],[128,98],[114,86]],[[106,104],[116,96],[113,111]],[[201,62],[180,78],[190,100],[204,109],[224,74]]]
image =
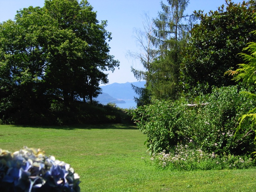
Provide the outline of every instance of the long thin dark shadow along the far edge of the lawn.
[[30,127],[39,129],[62,129],[62,130],[77,130],[77,129],[138,129],[136,125],[132,124],[82,124],[82,125],[67,125],[67,126],[35,126],[35,125],[11,125],[13,127]]

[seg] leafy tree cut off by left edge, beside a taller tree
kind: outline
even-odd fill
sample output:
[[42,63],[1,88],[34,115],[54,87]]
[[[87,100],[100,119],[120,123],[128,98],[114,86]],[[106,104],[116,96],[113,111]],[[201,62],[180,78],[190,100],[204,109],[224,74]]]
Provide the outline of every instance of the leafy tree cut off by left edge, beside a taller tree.
[[11,122],[17,117],[22,120],[47,108],[41,81],[46,57],[40,38],[44,36],[45,25],[50,23],[51,18],[39,7],[23,9],[15,21],[1,23],[1,118],[11,118]]

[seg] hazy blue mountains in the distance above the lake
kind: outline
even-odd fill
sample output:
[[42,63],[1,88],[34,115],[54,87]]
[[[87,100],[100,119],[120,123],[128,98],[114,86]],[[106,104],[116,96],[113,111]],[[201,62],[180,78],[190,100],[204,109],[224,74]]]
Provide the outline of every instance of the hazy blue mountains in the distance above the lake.
[[[100,86],[102,94],[95,98],[95,100],[98,100],[100,103],[117,103],[122,102],[121,100],[132,100],[134,97],[138,96],[132,89],[132,84],[137,87],[144,87],[145,83],[145,81],[142,81],[133,83],[113,83]],[[113,100],[116,100],[117,102]]]

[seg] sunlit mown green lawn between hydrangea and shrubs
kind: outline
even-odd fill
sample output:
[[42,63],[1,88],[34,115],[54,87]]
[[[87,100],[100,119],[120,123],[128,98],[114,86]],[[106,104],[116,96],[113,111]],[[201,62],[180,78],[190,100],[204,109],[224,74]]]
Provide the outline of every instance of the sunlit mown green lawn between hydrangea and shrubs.
[[[85,191],[256,191],[256,169],[170,172],[150,165],[146,136],[124,124],[0,125],[0,148],[41,148],[71,164]],[[143,159],[141,158],[143,157]]]

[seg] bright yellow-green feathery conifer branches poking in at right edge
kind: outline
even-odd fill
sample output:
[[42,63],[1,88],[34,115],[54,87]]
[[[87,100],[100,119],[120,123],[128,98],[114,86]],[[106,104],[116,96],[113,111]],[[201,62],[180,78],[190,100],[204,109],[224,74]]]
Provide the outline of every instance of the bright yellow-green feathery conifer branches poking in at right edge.
[[[255,14],[254,14],[255,16]],[[256,20],[256,17],[254,18]],[[253,35],[256,35],[256,31],[252,32]],[[236,69],[235,71],[229,70],[226,73],[234,75],[233,80],[240,81],[248,86],[252,87],[253,91],[255,91],[255,84],[256,84],[256,75],[255,75],[255,70],[256,70],[256,43],[251,42],[248,43],[248,46],[243,49],[243,51],[247,51],[250,54],[247,53],[240,53],[239,55],[242,56],[244,61],[246,63],[244,64],[239,64],[239,68]],[[248,99],[253,99],[256,100],[256,94],[252,92],[241,92],[241,94],[248,98]],[[251,125],[250,127],[252,130],[256,133],[256,108],[252,108],[247,114],[244,114],[243,116],[240,117],[239,119],[239,126],[237,127],[237,132],[241,129],[248,129],[248,123]],[[256,144],[256,136],[254,138],[254,144]],[[256,152],[253,152],[255,154]]]

